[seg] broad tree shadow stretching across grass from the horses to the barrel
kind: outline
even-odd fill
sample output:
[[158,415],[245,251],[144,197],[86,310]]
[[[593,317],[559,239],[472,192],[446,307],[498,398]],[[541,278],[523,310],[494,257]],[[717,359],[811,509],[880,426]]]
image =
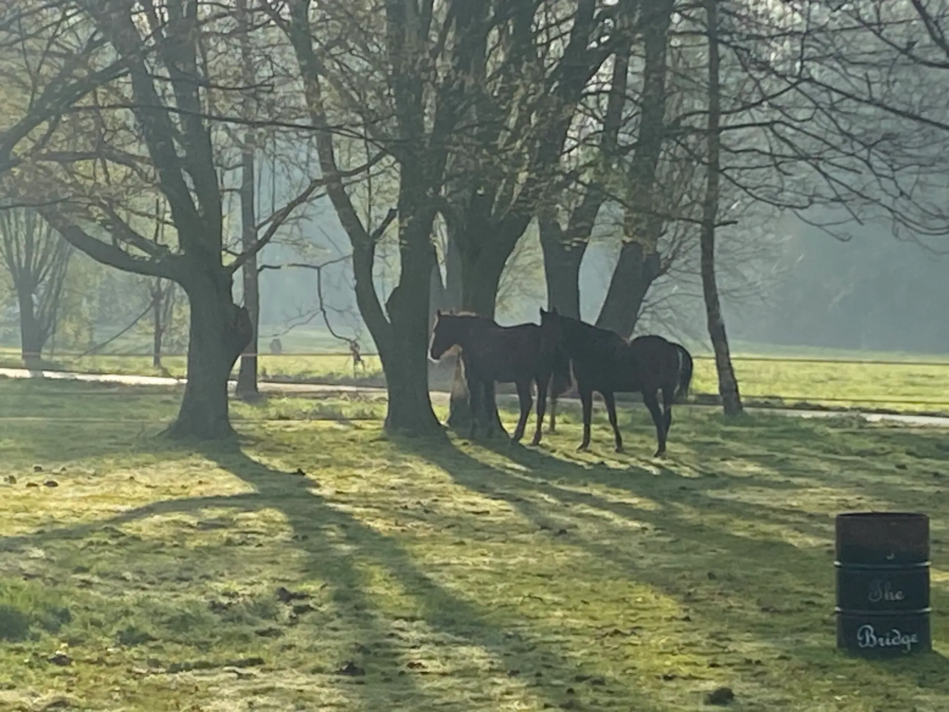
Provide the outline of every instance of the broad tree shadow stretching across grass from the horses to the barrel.
[[[720,659],[716,665],[730,667],[746,680],[767,681],[773,676],[774,687],[780,687],[778,678],[791,665],[806,668],[814,682],[839,685],[835,682],[838,676],[849,672],[864,678],[865,684],[878,686],[885,684],[888,674],[892,680],[949,695],[949,665],[939,653],[869,664],[835,650],[833,557],[828,536],[832,527],[810,528],[809,535],[819,536],[826,542],[824,546],[792,545],[776,534],[763,538],[729,530],[727,522],[735,517],[768,523],[768,517],[774,516],[766,506],[750,507],[745,502],[708,496],[709,491],[727,490],[729,478],[719,476],[708,481],[703,477],[698,486],[686,484],[682,489],[679,482],[683,478],[668,469],[659,475],[636,467],[618,472],[605,464],[583,466],[507,444],[494,451],[496,456],[515,463],[516,470],[498,469],[454,446],[414,450],[450,473],[459,484],[507,500],[537,526],[549,527],[555,519],[569,528],[571,543],[620,567],[631,581],[679,600],[689,611],[687,617],[697,619],[696,625],[679,627],[683,638],[753,638],[761,646],[779,652],[779,657],[762,668],[754,660],[735,659],[726,645],[710,653],[711,658]],[[743,483],[745,480],[742,478]],[[610,502],[598,493],[582,491],[589,483],[622,487],[660,506],[639,508]],[[775,495],[789,487],[778,483]],[[557,503],[555,507],[542,504],[551,498]],[[578,505],[580,513],[576,511]],[[640,534],[623,529],[611,536],[611,541],[590,540],[586,533],[606,529],[602,518],[584,514],[591,508],[646,526]],[[787,521],[777,523],[788,525]],[[623,536],[639,536],[641,541],[635,546],[616,546],[614,542]],[[756,592],[754,601],[747,600],[749,592]],[[938,587],[933,590],[933,605],[936,609],[949,605],[949,596]],[[949,638],[944,620],[940,615],[933,618],[935,640]],[[699,626],[706,630],[697,629]]]

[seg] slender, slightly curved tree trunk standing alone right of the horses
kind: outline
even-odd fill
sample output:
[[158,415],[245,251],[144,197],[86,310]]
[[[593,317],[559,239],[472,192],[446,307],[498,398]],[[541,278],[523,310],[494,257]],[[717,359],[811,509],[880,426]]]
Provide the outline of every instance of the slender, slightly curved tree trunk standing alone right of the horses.
[[715,273],[715,234],[718,214],[719,149],[721,135],[721,96],[718,79],[718,7],[717,0],[705,0],[709,40],[709,109],[708,109],[708,175],[706,176],[705,199],[702,204],[701,229],[701,274],[702,293],[705,297],[705,315],[708,320],[709,337],[715,350],[718,372],[718,393],[721,395],[725,415],[741,413],[741,396],[738,381],[728,348],[725,320],[721,315],[718,285]]

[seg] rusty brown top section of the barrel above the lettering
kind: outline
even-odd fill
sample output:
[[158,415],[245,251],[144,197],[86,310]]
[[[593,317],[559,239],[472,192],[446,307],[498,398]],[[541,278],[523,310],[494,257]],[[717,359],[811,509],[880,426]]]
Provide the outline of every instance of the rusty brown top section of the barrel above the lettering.
[[929,516],[846,512],[836,516],[836,558],[844,564],[916,564],[929,559]]

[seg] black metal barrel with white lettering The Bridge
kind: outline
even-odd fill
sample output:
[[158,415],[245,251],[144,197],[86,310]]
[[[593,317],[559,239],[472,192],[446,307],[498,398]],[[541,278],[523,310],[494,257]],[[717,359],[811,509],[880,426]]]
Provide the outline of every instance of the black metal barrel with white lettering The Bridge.
[[837,647],[865,658],[932,649],[929,517],[837,515]]

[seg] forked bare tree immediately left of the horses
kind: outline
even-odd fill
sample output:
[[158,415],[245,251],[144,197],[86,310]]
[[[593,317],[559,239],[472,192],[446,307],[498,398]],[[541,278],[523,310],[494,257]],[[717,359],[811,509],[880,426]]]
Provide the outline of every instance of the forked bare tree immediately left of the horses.
[[[430,278],[436,264],[431,233],[446,143],[461,119],[466,88],[472,85],[462,76],[433,81],[437,82],[437,62],[470,63],[479,36],[474,5],[446,3],[448,11],[441,17],[436,16],[434,4],[412,0],[386,0],[379,5],[346,2],[345,7],[325,4],[318,13],[307,0],[270,5],[274,23],[284,29],[293,47],[305,84],[307,111],[317,130],[317,156],[327,178],[326,192],[352,245],[357,304],[385,370],[386,427],[390,430],[419,434],[439,430],[428,396],[425,359]],[[336,41],[350,49],[350,66],[343,71],[338,64],[330,64],[344,61],[326,54],[318,31],[321,26],[337,28]],[[373,37],[371,42],[368,35]],[[442,35],[445,39],[439,41]],[[374,47],[380,42],[381,53]],[[363,82],[354,85],[353,76]],[[343,106],[334,106],[330,96],[340,97]],[[388,96],[392,103],[387,102]],[[398,164],[397,204],[376,224],[358,214],[344,184],[340,146],[330,130],[334,110],[362,125],[367,138]],[[381,237],[397,217],[399,277],[383,306],[373,278],[374,263]]]

